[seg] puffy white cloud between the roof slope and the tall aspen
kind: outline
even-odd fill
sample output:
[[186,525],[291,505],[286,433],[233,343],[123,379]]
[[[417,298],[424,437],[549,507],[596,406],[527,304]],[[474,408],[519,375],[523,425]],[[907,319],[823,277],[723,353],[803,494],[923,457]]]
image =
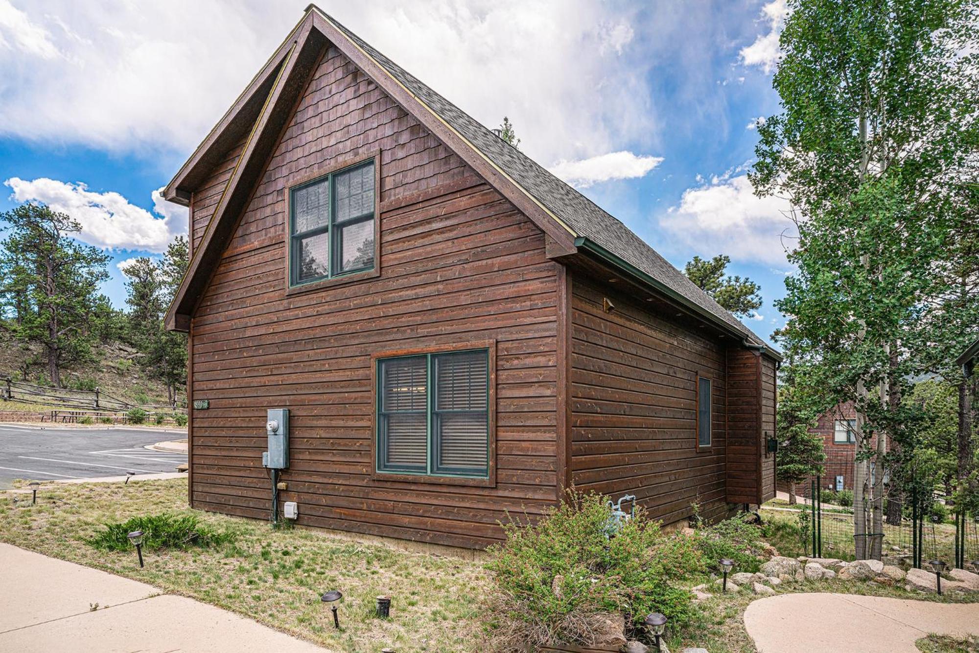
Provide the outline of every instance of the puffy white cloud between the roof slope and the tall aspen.
[[709,185],[688,188],[660,226],[701,256],[727,254],[736,261],[784,266],[795,243],[791,206],[778,197],[755,195],[745,175],[715,176]]

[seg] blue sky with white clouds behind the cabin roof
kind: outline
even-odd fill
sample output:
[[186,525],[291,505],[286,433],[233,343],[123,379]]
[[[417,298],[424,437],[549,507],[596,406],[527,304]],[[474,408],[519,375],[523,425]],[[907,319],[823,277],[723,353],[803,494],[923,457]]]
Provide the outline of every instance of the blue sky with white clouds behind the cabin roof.
[[[154,193],[256,73],[304,2],[0,0],[0,211],[44,201],[117,263],[157,256],[186,213]],[[784,0],[679,3],[322,0],[320,7],[682,268],[731,257],[761,283],[746,324],[784,324],[788,205],[745,171]],[[205,63],[207,62],[207,63]]]

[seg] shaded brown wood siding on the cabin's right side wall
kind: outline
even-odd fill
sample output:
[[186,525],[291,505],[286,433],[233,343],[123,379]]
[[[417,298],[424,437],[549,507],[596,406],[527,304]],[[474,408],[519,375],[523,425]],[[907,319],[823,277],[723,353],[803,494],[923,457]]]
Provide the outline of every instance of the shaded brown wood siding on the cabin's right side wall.
[[[726,514],[723,346],[584,276],[572,288],[575,485],[635,494],[668,524],[688,517],[695,501],[707,519]],[[698,375],[713,381],[712,444],[699,452]]]

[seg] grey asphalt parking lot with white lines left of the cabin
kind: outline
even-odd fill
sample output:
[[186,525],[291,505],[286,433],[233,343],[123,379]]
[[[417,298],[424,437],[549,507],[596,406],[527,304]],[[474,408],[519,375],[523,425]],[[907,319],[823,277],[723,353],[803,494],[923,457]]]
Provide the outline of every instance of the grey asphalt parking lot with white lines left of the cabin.
[[36,427],[0,424],[0,488],[15,478],[64,480],[118,477],[126,472],[174,472],[185,454],[151,451],[147,444],[178,439],[146,428]]

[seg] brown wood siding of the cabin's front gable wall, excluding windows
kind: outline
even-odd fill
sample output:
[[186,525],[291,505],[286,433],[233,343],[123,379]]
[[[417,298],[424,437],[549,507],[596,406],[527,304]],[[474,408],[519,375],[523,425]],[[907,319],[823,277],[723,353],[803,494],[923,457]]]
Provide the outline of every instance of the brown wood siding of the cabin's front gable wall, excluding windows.
[[[267,519],[265,410],[290,409],[300,523],[482,547],[556,496],[557,264],[542,233],[328,50],[193,322],[193,501]],[[287,295],[286,194],[381,153],[381,275]],[[370,357],[496,341],[496,486],[372,479]]]

